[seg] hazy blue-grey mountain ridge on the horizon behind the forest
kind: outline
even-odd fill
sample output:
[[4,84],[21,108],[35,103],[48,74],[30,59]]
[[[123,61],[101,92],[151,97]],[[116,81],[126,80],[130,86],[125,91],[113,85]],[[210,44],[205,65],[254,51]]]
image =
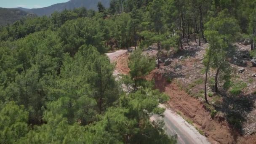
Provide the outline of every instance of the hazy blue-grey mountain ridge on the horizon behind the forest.
[[33,9],[19,8],[19,9],[23,11],[27,11],[28,13],[35,13],[37,14],[37,16],[44,16],[44,15],[49,16],[54,11],[60,12],[65,9],[72,10],[74,8],[79,8],[83,6],[87,9],[97,10],[97,4],[99,1],[101,1],[101,3],[105,7],[109,7],[110,0],[70,0],[66,3],[58,3],[58,4],[54,4],[44,8],[33,8]]

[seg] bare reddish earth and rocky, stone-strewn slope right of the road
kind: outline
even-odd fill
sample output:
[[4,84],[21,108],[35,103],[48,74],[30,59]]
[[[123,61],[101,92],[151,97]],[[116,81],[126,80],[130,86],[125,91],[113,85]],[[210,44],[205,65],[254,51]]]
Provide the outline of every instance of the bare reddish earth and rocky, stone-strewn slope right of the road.
[[[239,43],[235,45],[237,50],[229,58],[232,67],[231,80],[233,85],[246,84],[243,92],[238,96],[232,96],[229,90],[224,90],[222,81],[219,85],[221,94],[215,94],[211,88],[211,82],[208,82],[208,93],[213,93],[213,96],[208,97],[210,105],[205,105],[202,60],[207,44],[203,44],[202,47],[198,47],[193,42],[189,46],[184,45],[184,51],[171,56],[173,59],[171,65],[166,67],[162,65],[147,78],[155,79],[155,87],[170,96],[170,106],[202,129],[211,143],[256,144],[256,96],[254,93],[256,78],[251,76],[256,73],[256,68],[251,67],[249,62],[250,47]],[[156,50],[147,50],[146,53],[154,56]],[[184,59],[179,59],[180,56],[184,56]],[[117,70],[127,74],[129,72],[127,61],[128,54],[118,57]],[[245,61],[246,65],[241,65],[241,61]],[[242,74],[237,72],[241,67],[245,68]],[[215,70],[211,69],[209,80],[213,78],[214,73]],[[217,110],[217,114],[212,118],[211,110],[213,109]],[[241,117],[238,126],[230,123],[230,117],[227,117],[230,112],[235,112],[235,116]]]

